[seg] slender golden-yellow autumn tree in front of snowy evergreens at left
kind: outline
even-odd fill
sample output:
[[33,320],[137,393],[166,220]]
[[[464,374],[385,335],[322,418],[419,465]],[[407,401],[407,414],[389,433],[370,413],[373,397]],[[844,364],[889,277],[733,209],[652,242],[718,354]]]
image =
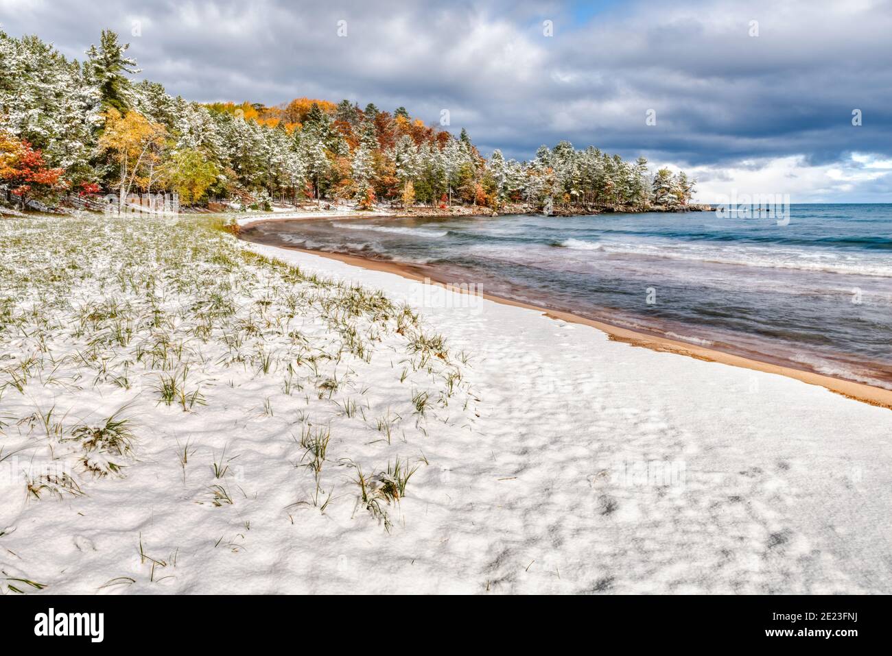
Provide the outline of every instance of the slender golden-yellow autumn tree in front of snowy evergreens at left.
[[124,115],[115,109],[105,112],[105,130],[99,137],[99,146],[111,152],[120,167],[121,210],[134,184],[151,189],[166,143],[167,128],[146,119],[138,111],[131,110]]

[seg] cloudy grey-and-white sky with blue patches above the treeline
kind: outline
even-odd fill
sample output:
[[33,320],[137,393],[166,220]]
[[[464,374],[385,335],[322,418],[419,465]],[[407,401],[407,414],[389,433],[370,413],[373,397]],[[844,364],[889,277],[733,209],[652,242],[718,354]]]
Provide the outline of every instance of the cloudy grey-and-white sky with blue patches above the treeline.
[[447,110],[485,154],[644,155],[700,201],[892,202],[892,0],[0,0],[0,25],[78,59],[114,29],[195,101]]

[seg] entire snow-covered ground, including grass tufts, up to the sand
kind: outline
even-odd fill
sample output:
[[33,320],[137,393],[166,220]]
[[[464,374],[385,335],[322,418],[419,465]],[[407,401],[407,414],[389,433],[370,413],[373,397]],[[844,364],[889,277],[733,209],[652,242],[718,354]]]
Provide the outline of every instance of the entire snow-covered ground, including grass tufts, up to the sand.
[[4,591],[892,591],[888,410],[205,229],[53,221],[0,221]]

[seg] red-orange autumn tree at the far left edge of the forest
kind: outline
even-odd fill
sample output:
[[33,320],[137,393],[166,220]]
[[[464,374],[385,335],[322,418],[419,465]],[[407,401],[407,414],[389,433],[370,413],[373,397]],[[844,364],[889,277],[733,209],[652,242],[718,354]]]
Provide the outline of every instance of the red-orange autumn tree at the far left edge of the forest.
[[29,142],[0,129],[0,180],[7,186],[7,198],[17,196],[24,208],[29,197],[64,189],[68,183],[63,172],[62,168],[47,167],[43,152]]

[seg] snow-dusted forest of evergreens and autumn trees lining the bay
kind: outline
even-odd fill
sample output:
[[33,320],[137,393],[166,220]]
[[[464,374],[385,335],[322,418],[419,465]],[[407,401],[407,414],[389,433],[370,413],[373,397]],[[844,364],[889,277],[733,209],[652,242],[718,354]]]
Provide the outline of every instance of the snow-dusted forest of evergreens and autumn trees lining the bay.
[[355,201],[409,208],[683,209],[695,181],[594,146],[542,145],[532,160],[489,157],[404,107],[296,98],[276,107],[191,102],[132,79],[128,45],[103,30],[83,61],[0,31],[0,202],[53,208],[114,193],[177,193],[237,209]]

